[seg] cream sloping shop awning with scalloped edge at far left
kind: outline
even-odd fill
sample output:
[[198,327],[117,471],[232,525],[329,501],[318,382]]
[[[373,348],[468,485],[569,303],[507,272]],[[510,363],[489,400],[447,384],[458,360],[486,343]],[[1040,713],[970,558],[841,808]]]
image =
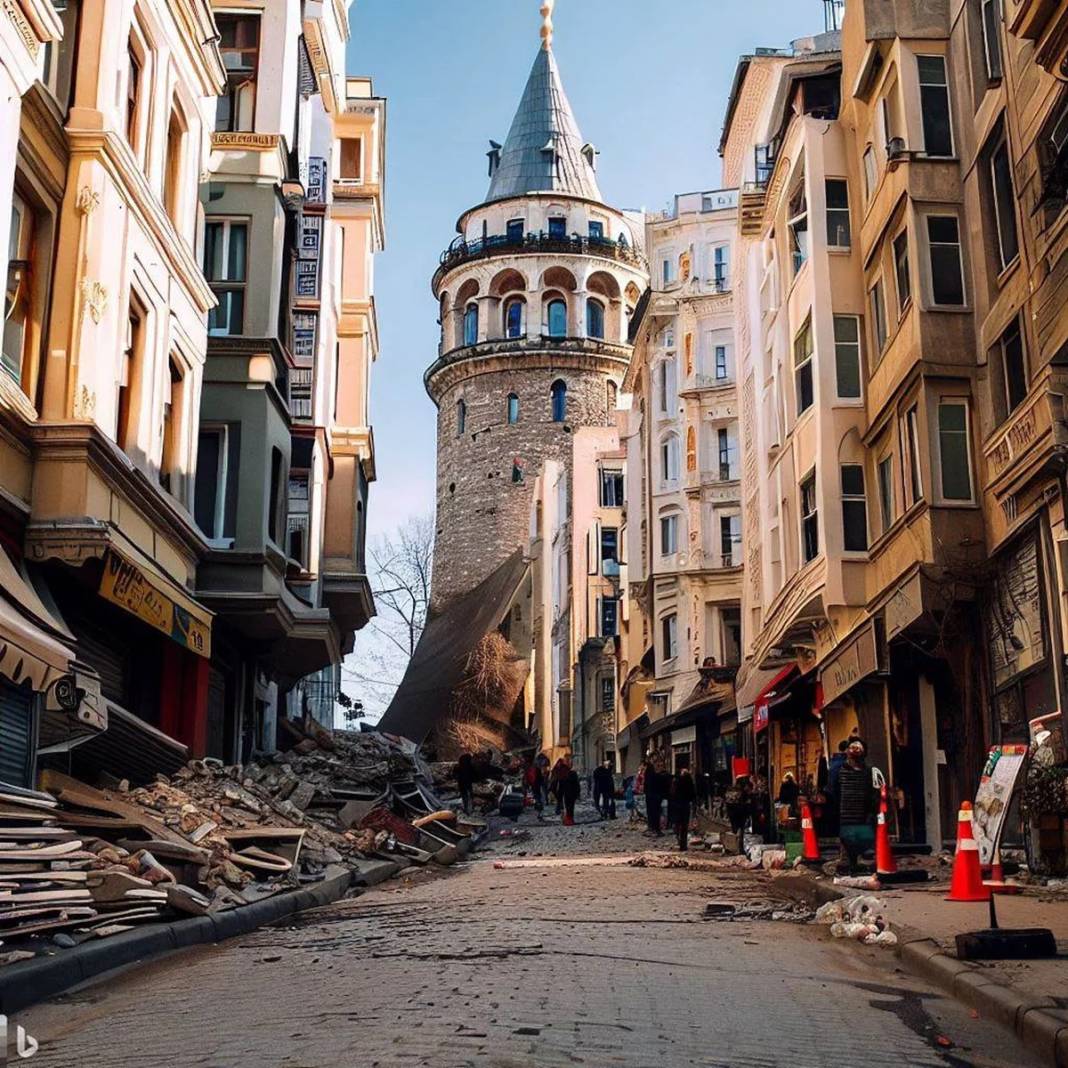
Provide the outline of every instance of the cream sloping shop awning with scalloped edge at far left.
[[70,673],[75,655],[65,640],[73,637],[44,606],[0,548],[0,675],[47,690]]

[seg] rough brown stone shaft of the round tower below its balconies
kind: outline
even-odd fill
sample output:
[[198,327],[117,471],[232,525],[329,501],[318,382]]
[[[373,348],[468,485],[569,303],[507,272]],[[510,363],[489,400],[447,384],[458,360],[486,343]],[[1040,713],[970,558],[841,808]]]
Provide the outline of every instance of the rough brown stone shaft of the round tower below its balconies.
[[[550,389],[567,383],[567,418],[552,421]],[[519,421],[507,421],[509,393]],[[457,402],[467,425],[457,434]],[[571,433],[608,424],[608,378],[598,371],[498,371],[445,391],[438,411],[438,512],[434,602],[445,603],[477,585],[530,536],[534,478],[547,459],[569,472]],[[523,481],[514,483],[513,462]],[[570,481],[569,481],[570,482]]]

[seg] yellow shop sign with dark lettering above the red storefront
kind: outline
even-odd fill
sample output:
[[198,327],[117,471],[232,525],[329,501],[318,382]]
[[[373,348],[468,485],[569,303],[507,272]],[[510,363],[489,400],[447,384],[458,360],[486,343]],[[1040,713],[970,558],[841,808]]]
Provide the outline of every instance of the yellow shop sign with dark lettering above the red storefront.
[[190,653],[210,660],[211,613],[146,560],[135,561],[110,546],[104,554],[99,594]]

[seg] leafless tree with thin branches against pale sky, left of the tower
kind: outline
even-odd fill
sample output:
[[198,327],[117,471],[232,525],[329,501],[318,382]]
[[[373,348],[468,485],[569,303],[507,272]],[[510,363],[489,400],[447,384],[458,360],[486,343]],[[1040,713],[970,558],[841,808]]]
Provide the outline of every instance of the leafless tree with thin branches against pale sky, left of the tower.
[[434,517],[412,516],[367,548],[377,615],[358,640],[345,677],[384,709],[400,685],[426,626],[430,606]]

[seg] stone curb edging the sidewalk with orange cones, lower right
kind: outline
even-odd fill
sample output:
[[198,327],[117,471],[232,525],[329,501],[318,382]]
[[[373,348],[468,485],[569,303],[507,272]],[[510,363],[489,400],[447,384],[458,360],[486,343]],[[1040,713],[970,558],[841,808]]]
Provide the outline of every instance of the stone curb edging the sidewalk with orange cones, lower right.
[[1048,1011],[1057,1008],[1054,1001],[1019,993],[974,964],[951,957],[915,928],[899,927],[897,931],[897,956],[909,971],[1008,1027],[1054,1068],[1068,1068],[1068,1019]]

